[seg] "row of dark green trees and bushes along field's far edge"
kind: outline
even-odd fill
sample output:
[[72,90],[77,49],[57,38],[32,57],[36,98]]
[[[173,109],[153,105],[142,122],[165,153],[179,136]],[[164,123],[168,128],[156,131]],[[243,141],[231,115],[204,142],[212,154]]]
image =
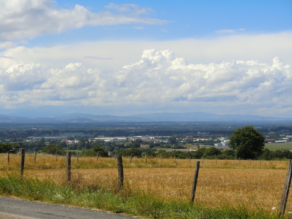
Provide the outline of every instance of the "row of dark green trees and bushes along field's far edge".
[[[75,148],[81,149],[80,156],[96,156],[98,153],[102,157],[107,157],[108,150],[114,151],[114,154],[122,155],[122,156],[133,156],[141,157],[142,153],[147,154],[150,157],[163,156],[164,158],[172,158],[176,157],[178,159],[201,159],[202,157],[206,159],[292,159],[292,152],[289,150],[275,150],[270,151],[267,148],[265,149],[265,137],[262,133],[253,128],[253,126],[244,126],[242,128],[238,128],[236,131],[233,131],[233,134],[230,135],[230,143],[229,147],[231,150],[218,149],[215,147],[201,147],[196,151],[179,151],[175,150],[172,152],[166,152],[166,150],[157,150],[154,147],[165,147],[163,143],[150,143],[148,148],[140,148],[141,143],[145,143],[142,140],[137,140],[130,142],[128,144],[124,143],[116,143],[116,142],[89,142],[88,139],[83,138],[81,136],[74,138],[80,139],[78,143],[74,145],[69,145],[69,150],[74,150]],[[175,136],[170,138],[170,142],[176,142]],[[27,142],[20,142],[19,144],[11,144],[11,143],[0,143],[0,152],[5,153],[8,150],[11,152],[16,152],[19,147],[26,146]],[[29,144],[29,143],[27,143]],[[65,153],[65,147],[67,147],[65,141],[57,142],[55,140],[51,140],[50,144],[45,146],[45,139],[35,142],[34,144],[39,145],[42,149],[42,152],[48,154],[58,154]],[[161,146],[163,145],[163,146]],[[167,144],[166,144],[167,145]],[[35,146],[35,149],[39,149],[39,146]],[[71,147],[74,147],[71,148]],[[169,145],[170,147],[170,145]],[[184,148],[182,145],[175,144],[173,149]],[[75,153],[73,153],[74,155]]]

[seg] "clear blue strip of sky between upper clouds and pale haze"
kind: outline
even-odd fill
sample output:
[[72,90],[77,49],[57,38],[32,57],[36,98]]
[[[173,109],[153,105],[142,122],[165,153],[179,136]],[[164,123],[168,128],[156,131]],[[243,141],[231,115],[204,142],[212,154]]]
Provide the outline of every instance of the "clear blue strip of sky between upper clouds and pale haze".
[[[91,12],[109,10],[111,1],[56,1],[58,8],[82,5]],[[238,33],[273,33],[292,27],[291,1],[114,1],[114,4],[136,4],[151,8],[145,16],[168,20],[164,25],[121,24],[84,26],[61,34],[46,34],[28,40],[30,46],[67,43],[82,40],[173,40],[181,38],[218,37],[224,29],[245,29]],[[110,10],[118,13],[115,10]],[[133,27],[143,27],[134,29]]]

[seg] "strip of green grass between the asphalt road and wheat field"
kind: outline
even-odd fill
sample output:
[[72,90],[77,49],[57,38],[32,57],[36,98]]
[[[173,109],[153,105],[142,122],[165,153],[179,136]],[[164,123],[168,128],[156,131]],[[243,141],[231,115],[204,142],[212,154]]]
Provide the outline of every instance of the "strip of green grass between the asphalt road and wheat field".
[[210,208],[199,204],[189,205],[175,199],[159,200],[143,192],[77,188],[72,184],[56,185],[49,180],[41,181],[37,178],[20,179],[17,175],[0,178],[0,194],[54,204],[98,208],[142,218],[279,218],[276,212],[271,214],[260,207],[257,211],[249,211],[242,204],[237,208]]

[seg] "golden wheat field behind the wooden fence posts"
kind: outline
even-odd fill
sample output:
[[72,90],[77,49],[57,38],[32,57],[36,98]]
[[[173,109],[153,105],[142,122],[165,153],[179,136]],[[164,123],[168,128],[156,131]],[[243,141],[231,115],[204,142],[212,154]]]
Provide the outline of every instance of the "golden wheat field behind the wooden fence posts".
[[[279,207],[287,174],[288,161],[204,160],[201,162],[195,201],[207,206],[244,203],[247,208],[257,207],[272,211]],[[196,160],[123,157],[124,190],[147,192],[161,199],[190,200]],[[217,162],[217,165],[216,165]],[[19,173],[20,155],[0,155],[0,174]],[[66,183],[66,157],[25,155],[25,177]],[[117,188],[117,160],[114,158],[71,158],[72,183],[79,187]],[[292,205],[286,211],[292,211]],[[291,202],[292,203],[292,202]]]

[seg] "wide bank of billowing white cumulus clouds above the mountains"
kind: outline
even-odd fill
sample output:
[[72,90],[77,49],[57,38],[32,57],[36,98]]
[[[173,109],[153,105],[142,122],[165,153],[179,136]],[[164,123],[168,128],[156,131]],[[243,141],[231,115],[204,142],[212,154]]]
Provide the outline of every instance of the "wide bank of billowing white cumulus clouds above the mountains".
[[7,108],[160,105],[169,109],[211,104],[221,109],[281,110],[291,109],[291,83],[292,67],[279,57],[272,65],[256,60],[189,64],[170,50],[148,49],[139,62],[112,72],[86,69],[81,63],[60,69],[42,69],[34,63],[0,69],[0,103]]

